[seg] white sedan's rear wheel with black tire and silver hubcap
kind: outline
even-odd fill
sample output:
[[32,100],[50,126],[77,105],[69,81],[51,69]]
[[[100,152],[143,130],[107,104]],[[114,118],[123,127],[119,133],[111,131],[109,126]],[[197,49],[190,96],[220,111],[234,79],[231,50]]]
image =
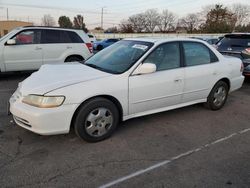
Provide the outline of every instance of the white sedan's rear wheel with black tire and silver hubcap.
[[229,87],[225,82],[217,82],[210,92],[205,105],[211,110],[221,109],[226,103],[228,91]]

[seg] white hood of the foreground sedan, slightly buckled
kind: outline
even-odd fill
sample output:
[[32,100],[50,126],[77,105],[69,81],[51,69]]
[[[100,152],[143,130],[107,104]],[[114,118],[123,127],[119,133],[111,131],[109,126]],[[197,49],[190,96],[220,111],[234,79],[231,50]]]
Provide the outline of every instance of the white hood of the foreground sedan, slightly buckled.
[[107,76],[111,74],[80,63],[43,65],[39,71],[19,84],[19,90],[23,96],[44,95],[52,90]]

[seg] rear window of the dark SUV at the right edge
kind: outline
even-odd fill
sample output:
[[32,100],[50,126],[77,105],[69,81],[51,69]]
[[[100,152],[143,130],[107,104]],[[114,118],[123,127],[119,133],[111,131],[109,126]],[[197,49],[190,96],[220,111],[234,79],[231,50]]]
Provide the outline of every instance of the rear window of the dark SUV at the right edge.
[[219,43],[219,47],[228,48],[228,47],[250,47],[250,35],[227,35]]

